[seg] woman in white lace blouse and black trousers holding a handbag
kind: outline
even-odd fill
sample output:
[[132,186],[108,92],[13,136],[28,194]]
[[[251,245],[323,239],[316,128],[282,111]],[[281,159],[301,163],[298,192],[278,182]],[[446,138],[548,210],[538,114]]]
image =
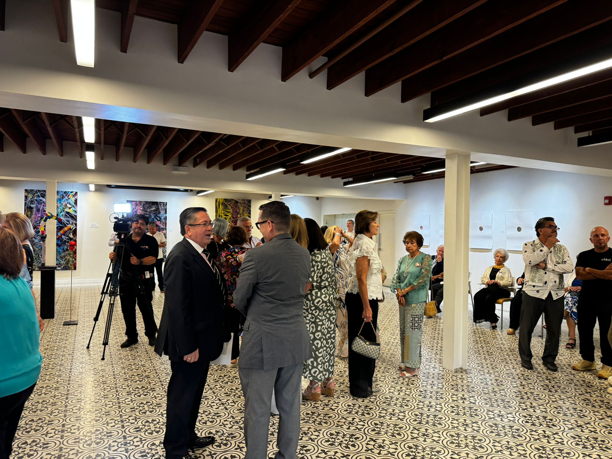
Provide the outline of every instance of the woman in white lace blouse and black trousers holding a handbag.
[[351,344],[358,334],[368,341],[376,341],[378,300],[383,299],[384,282],[378,244],[371,239],[378,234],[377,219],[378,213],[371,211],[360,211],[356,215],[356,236],[348,251],[351,273],[345,296],[349,341],[348,381],[351,395],[358,398],[373,394],[372,378],[376,360],[356,353],[351,349]]

